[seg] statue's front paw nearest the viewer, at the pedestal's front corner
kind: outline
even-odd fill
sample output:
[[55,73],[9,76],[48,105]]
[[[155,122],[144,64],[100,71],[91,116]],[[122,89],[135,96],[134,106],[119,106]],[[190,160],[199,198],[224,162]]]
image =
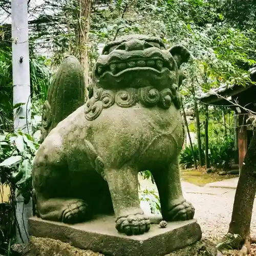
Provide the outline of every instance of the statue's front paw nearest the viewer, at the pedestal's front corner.
[[144,214],[131,214],[127,217],[119,217],[116,220],[116,229],[127,236],[143,234],[150,230],[150,219]]

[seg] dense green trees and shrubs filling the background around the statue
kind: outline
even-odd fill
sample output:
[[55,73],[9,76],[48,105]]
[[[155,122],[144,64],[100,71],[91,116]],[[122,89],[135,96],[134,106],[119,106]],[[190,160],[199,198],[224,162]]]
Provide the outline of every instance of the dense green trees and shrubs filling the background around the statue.
[[[181,94],[184,110],[198,122],[194,154],[204,164],[203,121],[209,119],[210,164],[225,167],[234,161],[233,113],[226,108],[198,104],[203,92],[228,84],[250,82],[256,63],[256,3],[253,0],[28,0],[32,101],[32,132],[13,132],[11,1],[0,0],[0,183],[31,197],[31,165],[38,148],[42,103],[63,55],[75,55],[84,66],[87,83],[99,45],[131,33],[160,36],[167,46],[182,44],[193,55],[184,65]],[[207,117],[207,115],[209,117]],[[223,118],[224,117],[224,118]],[[194,164],[191,147],[181,163]],[[3,195],[2,195],[3,196]],[[15,205],[12,193],[10,204]],[[2,222],[4,217],[1,217]],[[0,247],[8,253],[13,225],[1,226]],[[3,253],[1,251],[1,253]]]

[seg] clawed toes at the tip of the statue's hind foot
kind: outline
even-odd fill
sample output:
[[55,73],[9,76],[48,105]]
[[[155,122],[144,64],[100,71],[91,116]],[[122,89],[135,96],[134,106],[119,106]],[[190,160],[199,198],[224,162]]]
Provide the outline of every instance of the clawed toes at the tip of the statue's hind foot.
[[62,222],[76,223],[86,219],[88,204],[83,200],[72,200],[68,202],[67,208],[62,213]]

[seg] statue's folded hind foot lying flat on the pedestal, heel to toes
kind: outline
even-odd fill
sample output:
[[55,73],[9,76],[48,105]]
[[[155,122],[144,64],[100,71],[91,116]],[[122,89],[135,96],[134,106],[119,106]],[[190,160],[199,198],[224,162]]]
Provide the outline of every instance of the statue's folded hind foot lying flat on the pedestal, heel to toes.
[[89,218],[88,204],[81,199],[45,199],[37,195],[37,212],[44,220],[64,223],[77,223]]

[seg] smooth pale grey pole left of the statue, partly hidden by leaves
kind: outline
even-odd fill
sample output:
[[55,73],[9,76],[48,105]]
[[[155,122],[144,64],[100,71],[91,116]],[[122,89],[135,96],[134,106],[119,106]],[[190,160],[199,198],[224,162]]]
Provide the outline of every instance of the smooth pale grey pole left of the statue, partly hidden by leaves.
[[[31,131],[29,37],[27,0],[12,0],[12,76],[14,132]],[[17,195],[17,191],[15,191]],[[16,196],[17,242],[28,242],[28,218],[32,216],[32,201],[24,204]]]

